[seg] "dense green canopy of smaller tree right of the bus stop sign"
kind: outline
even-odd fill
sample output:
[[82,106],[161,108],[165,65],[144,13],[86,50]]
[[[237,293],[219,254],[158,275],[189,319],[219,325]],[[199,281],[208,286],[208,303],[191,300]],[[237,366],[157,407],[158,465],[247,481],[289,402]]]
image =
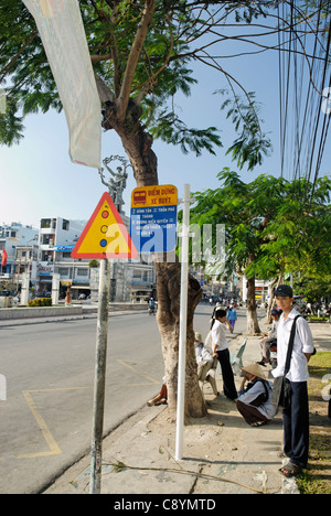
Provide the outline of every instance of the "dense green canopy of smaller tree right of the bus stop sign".
[[331,180],[316,184],[260,174],[245,183],[218,173],[220,189],[194,193],[192,223],[225,224],[227,271],[271,279],[331,270]]

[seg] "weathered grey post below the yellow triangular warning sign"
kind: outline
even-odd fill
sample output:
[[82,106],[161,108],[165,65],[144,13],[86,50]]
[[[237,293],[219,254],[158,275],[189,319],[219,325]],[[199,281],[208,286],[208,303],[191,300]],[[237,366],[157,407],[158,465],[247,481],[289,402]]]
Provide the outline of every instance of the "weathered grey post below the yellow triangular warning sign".
[[100,494],[102,488],[109,286],[110,261],[104,258],[100,260],[89,494]]

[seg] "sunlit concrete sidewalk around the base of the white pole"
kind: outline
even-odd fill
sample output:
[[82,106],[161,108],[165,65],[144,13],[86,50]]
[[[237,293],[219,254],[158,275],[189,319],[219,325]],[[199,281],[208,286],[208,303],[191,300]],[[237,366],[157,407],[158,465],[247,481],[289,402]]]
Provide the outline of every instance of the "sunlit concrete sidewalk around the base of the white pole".
[[[261,324],[264,330],[266,326]],[[311,324],[318,351],[330,350],[331,326]],[[236,352],[243,336],[231,347]],[[259,337],[248,337],[244,364],[260,359]],[[236,377],[239,386],[241,379]],[[222,393],[222,377],[217,377]],[[157,394],[157,393],[156,393]],[[204,387],[209,417],[184,427],[183,460],[175,461],[175,423],[167,406],[142,407],[104,440],[103,494],[201,495],[298,493],[296,482],[279,472],[282,460],[281,415],[259,428],[247,426],[234,402]],[[65,472],[45,494],[87,494],[86,456]]]

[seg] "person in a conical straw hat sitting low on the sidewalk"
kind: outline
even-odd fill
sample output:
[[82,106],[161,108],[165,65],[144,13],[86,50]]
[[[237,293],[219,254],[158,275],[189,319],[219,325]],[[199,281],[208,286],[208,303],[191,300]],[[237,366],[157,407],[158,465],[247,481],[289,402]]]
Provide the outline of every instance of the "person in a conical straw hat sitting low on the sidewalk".
[[[277,413],[277,409],[273,406],[271,384],[258,364],[249,364],[242,370],[245,377],[238,393],[237,409],[250,427],[260,427]],[[248,384],[245,387],[246,381]]]

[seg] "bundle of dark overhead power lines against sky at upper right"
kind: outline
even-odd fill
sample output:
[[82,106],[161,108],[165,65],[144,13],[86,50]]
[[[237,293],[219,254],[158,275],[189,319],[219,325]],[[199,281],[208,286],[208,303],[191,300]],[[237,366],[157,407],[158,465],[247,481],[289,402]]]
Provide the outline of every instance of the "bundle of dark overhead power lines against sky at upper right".
[[287,49],[279,52],[279,137],[281,176],[303,178],[314,187],[331,117],[322,109],[331,88],[331,2],[319,0],[311,10],[297,0],[278,6],[278,47]]

